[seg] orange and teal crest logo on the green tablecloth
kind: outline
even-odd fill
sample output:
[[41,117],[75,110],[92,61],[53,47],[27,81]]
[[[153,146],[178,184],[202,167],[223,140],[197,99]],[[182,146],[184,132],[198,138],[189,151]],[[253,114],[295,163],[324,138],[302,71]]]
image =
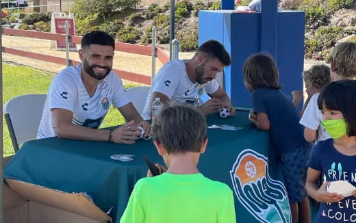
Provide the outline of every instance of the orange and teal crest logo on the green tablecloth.
[[243,150],[230,176],[238,200],[259,222],[292,222],[287,192],[281,181],[270,177],[267,157]]

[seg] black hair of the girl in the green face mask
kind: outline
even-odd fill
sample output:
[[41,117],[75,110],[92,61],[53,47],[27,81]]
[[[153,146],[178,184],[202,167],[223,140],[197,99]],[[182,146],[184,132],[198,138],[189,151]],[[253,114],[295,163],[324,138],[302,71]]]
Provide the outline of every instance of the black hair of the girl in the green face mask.
[[356,81],[341,80],[322,88],[318,98],[320,110],[340,111],[347,123],[348,136],[356,136]]

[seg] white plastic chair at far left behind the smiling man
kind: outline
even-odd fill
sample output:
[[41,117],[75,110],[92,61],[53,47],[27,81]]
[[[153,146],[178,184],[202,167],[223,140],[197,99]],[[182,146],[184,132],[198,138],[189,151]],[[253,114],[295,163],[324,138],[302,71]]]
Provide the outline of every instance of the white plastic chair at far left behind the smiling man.
[[24,142],[36,139],[47,94],[25,94],[5,103],[3,114],[17,153]]

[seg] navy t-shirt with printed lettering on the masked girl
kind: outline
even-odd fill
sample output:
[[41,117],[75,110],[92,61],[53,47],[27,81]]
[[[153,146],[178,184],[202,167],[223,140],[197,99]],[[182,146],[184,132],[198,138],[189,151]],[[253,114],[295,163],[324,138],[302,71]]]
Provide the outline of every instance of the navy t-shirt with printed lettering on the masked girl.
[[[356,155],[340,153],[333,139],[320,141],[312,149],[309,168],[319,170],[323,181],[348,181],[356,186]],[[356,222],[356,198],[348,196],[340,202],[320,203],[314,223]]]

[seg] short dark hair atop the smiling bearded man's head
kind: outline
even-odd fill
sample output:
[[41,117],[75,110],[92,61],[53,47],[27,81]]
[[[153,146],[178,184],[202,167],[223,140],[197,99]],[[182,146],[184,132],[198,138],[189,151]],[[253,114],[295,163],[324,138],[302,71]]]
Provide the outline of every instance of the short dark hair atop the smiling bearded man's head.
[[86,49],[90,44],[99,44],[103,46],[111,46],[115,49],[115,40],[104,31],[90,31],[81,39],[81,49]]

